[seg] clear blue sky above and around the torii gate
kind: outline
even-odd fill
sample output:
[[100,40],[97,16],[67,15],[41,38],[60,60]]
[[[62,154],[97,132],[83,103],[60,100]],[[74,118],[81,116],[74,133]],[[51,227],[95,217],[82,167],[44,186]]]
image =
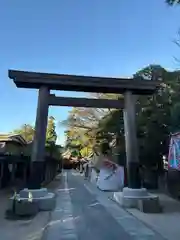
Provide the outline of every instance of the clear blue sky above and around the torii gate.
[[[98,76],[131,76],[150,63],[178,68],[173,40],[180,8],[164,2],[1,0],[0,132],[35,120],[37,91],[17,89],[10,68]],[[61,121],[69,110],[56,107],[49,114]],[[57,130],[62,143],[64,129]]]

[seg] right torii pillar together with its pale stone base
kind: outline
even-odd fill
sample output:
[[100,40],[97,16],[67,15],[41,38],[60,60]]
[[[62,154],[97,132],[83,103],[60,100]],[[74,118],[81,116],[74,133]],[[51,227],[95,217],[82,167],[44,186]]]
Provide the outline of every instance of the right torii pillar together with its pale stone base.
[[124,130],[126,146],[126,168],[128,186],[122,192],[115,192],[114,199],[121,206],[136,208],[138,200],[152,199],[145,188],[141,186],[140,164],[136,132],[136,96],[131,91],[124,93]]

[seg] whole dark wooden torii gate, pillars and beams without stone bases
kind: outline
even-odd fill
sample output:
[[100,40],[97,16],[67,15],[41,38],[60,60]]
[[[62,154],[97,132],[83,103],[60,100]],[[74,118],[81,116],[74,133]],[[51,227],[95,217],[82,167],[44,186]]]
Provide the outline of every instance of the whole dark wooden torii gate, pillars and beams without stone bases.
[[[139,156],[136,137],[135,95],[153,94],[160,86],[160,81],[143,78],[108,78],[49,74],[9,70],[9,78],[18,88],[39,89],[34,144],[31,155],[32,179],[30,188],[40,188],[45,156],[45,139],[49,106],[75,106],[94,108],[124,109],[124,127],[127,157],[128,187],[141,188],[139,177]],[[76,92],[124,94],[123,100],[88,99],[56,97],[50,90]]]

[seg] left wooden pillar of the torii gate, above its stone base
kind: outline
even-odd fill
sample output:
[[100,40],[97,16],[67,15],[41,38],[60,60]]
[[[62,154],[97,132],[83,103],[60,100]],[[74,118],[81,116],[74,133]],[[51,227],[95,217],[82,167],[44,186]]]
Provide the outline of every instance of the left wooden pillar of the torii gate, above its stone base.
[[43,181],[49,95],[50,90],[48,87],[41,86],[39,89],[35,136],[31,153],[31,177],[29,181],[29,188],[31,189],[41,188]]

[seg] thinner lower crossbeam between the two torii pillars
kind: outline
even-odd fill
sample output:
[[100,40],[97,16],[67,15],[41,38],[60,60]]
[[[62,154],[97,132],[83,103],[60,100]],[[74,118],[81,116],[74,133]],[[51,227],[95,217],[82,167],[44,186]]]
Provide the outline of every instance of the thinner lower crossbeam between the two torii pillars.
[[49,97],[49,105],[51,106],[67,106],[67,107],[87,107],[87,108],[116,108],[124,107],[124,100],[109,100],[109,99],[91,99],[91,98],[71,98],[71,97],[56,97],[51,94]]

